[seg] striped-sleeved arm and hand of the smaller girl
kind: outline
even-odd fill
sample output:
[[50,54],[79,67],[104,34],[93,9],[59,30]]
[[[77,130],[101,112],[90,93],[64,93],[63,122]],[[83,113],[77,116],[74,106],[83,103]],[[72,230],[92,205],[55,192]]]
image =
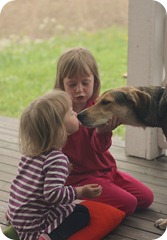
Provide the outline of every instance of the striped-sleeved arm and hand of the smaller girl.
[[98,184],[87,184],[76,188],[65,186],[67,176],[67,159],[52,159],[49,162],[44,181],[44,197],[48,203],[68,204],[77,198],[97,197],[102,192],[102,187]]

